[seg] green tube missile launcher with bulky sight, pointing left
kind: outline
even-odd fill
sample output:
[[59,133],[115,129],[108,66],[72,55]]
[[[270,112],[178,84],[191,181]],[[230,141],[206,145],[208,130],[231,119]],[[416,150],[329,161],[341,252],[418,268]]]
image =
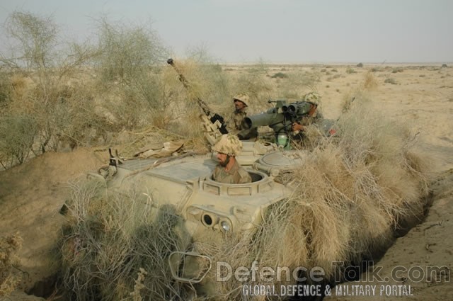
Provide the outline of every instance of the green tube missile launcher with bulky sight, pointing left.
[[[244,118],[243,128],[247,130],[260,126],[269,126],[275,132],[277,144],[283,144],[285,147],[289,144],[289,133],[293,123],[299,122],[304,116],[309,114],[311,106],[314,103],[309,101],[296,101],[287,103],[287,101],[268,101],[275,103],[274,108],[270,108],[263,113],[251,115]],[[280,140],[282,137],[282,141]]]

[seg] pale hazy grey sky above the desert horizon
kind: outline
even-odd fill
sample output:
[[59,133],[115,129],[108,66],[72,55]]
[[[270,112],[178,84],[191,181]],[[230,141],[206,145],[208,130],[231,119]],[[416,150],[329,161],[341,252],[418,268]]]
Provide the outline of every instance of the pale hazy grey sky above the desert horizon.
[[101,16],[151,21],[178,57],[220,62],[453,62],[453,0],[0,0],[1,23],[15,10],[78,38]]

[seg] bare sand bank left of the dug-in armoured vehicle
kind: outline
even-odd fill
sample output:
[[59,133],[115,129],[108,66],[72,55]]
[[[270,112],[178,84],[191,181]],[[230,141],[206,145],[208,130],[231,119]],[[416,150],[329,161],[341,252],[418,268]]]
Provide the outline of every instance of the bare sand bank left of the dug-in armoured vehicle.
[[59,210],[70,181],[105,164],[98,156],[88,149],[46,153],[0,173],[0,236],[19,232],[23,238],[22,290],[57,271],[52,251],[64,221]]

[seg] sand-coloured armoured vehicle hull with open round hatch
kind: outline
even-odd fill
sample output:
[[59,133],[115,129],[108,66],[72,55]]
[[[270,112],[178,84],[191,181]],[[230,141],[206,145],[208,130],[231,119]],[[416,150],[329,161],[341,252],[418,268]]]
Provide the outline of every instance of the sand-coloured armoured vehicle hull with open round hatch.
[[142,195],[144,206],[156,208],[151,220],[159,219],[168,208],[178,212],[176,231],[183,242],[168,256],[171,275],[180,283],[201,285],[200,291],[209,294],[210,285],[204,278],[212,268],[212,259],[193,249],[194,237],[220,239],[224,234],[256,231],[266,210],[294,191],[289,174],[306,156],[304,151],[287,151],[268,142],[242,144],[236,159],[250,174],[251,183],[214,181],[215,152],[126,161],[112,156],[110,174],[88,176],[105,181],[112,193],[133,190]]

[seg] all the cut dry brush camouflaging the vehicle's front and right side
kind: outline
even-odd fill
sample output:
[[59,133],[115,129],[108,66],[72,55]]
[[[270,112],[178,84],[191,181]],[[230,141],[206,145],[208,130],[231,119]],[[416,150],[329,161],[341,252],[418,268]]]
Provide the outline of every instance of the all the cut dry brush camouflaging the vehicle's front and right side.
[[[371,112],[355,101],[338,120],[335,140],[316,136],[317,146],[293,174],[294,193],[266,212],[256,232],[194,238],[192,246],[212,257],[205,283],[215,280],[218,261],[233,271],[251,268],[253,261],[274,271],[319,266],[328,282],[342,271],[332,261],[349,266],[374,259],[398,225],[423,216],[428,166],[415,150],[414,135]],[[154,218],[156,209],[140,201],[147,195],[110,195],[96,185],[74,186],[69,204],[62,263],[71,299],[185,300],[196,288],[173,281],[167,265],[168,254],[181,250],[188,237],[178,230],[177,210],[164,208]],[[295,282],[258,279],[212,281],[208,299],[242,300],[243,285]],[[199,294],[196,300],[206,299]]]

